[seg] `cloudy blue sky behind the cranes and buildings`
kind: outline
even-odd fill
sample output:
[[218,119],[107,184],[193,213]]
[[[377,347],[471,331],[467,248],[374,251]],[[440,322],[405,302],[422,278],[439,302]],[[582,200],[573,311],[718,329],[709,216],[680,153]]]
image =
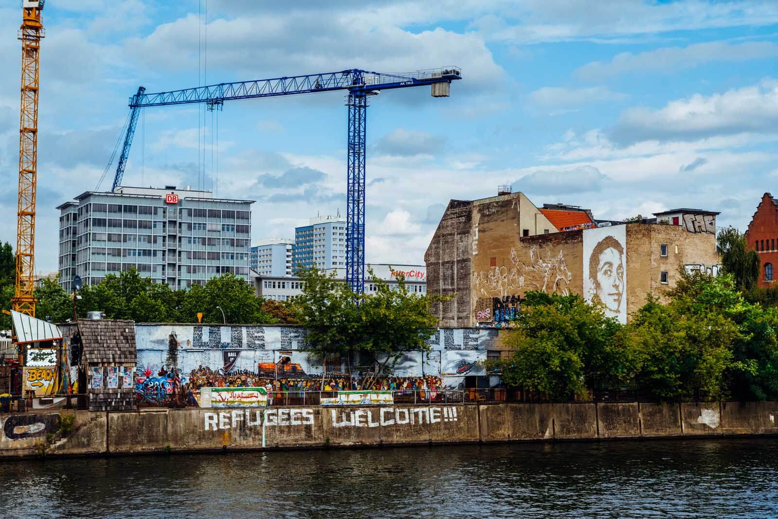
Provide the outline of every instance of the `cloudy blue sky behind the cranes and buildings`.
[[[10,4],[10,5],[9,5]],[[18,0],[0,6],[0,241],[16,243]],[[366,261],[423,265],[450,199],[511,184],[622,219],[677,207],[745,230],[778,177],[778,2],[49,0],[40,51],[36,270],[57,205],[107,191],[128,98],[219,82],[455,65],[370,98]],[[142,111],[124,185],[255,200],[252,240],[345,214],[343,93]],[[778,191],[778,190],[776,190]],[[776,193],[778,194],[778,193]]]

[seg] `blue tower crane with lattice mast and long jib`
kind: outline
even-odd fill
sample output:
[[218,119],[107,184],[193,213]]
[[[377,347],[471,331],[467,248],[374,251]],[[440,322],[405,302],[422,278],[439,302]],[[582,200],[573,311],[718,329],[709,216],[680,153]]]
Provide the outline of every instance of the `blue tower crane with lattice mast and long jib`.
[[127,130],[111,191],[121,185],[141,108],[206,103],[209,110],[221,110],[224,101],[230,100],[348,90],[345,270],[346,282],[355,293],[362,293],[365,286],[365,134],[368,96],[375,95],[380,90],[429,85],[433,97],[447,97],[450,94],[450,84],[456,79],[461,79],[461,70],[457,67],[436,68],[410,74],[383,74],[352,68],[324,74],[219,83],[171,92],[145,93],[145,88],[141,86],[138,93],[130,98]]

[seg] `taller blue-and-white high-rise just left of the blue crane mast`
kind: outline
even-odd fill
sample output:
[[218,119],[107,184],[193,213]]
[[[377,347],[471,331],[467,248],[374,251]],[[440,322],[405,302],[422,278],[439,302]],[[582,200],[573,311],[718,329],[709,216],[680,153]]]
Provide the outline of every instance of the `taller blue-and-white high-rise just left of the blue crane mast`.
[[341,216],[311,218],[307,226],[295,227],[293,271],[302,265],[345,268],[345,219]]

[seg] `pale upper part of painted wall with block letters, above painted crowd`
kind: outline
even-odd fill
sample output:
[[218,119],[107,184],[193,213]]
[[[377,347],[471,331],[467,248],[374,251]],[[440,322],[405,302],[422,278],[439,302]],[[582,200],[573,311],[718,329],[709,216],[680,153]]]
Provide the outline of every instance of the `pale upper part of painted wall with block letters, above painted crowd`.
[[[170,348],[171,334],[180,344],[176,349]],[[222,374],[256,374],[260,363],[279,363],[286,357],[300,364],[301,375],[321,377],[323,366],[304,351],[305,335],[303,328],[293,326],[135,324],[136,377],[141,387],[149,387],[169,385],[170,373],[178,373],[185,382],[201,367]],[[393,376],[440,376],[444,387],[460,387],[465,376],[485,375],[486,351],[499,349],[497,331],[481,328],[441,328],[429,338],[429,345],[429,354],[401,356]],[[160,376],[163,370],[166,374]]]

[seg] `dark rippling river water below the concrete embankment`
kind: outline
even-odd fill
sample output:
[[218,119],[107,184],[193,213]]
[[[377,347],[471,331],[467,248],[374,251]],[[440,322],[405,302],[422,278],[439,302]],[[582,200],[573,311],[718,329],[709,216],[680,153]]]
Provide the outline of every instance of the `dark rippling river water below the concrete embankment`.
[[2,517],[778,517],[778,438],[0,462]]

